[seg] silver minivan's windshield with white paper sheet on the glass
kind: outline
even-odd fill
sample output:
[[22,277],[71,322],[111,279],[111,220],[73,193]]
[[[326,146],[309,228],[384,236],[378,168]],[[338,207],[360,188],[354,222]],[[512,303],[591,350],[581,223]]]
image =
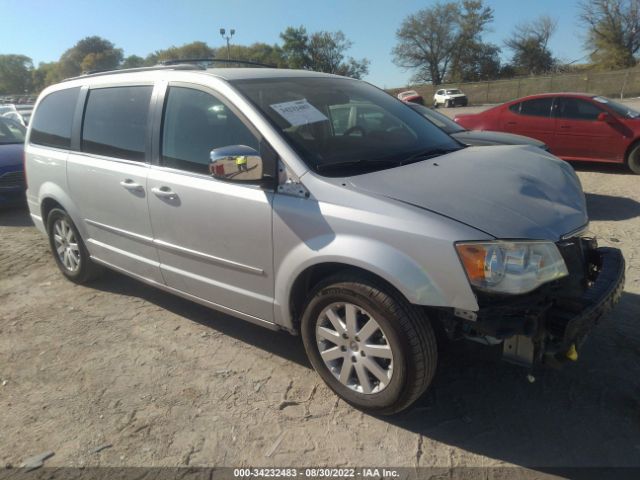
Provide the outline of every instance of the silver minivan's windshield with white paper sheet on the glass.
[[307,166],[323,175],[381,170],[419,161],[421,153],[461,148],[407,105],[365,82],[294,77],[232,83]]

